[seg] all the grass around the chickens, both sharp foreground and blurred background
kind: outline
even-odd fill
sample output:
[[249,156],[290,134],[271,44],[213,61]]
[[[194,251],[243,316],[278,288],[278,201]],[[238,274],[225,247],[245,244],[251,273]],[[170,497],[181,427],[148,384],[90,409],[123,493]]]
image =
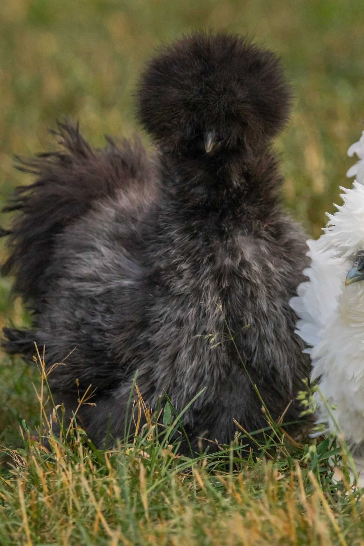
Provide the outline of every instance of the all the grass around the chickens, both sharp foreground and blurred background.
[[[296,96],[277,143],[284,198],[319,236],[339,185],[351,183],[346,150],[363,128],[356,0],[2,0],[0,205],[27,182],[12,167],[14,153],[49,148],[46,129],[57,117],[79,118],[95,145],[104,133],[132,133],[142,62],[161,39],[192,28],[253,33],[283,57]],[[0,327],[27,322],[9,288],[0,278]],[[330,456],[338,462],[347,452],[331,441],[293,445],[270,423],[271,449],[262,445],[258,459],[238,446],[242,432],[218,455],[188,460],[156,437],[152,422],[111,452],[92,449],[75,425],[69,446],[51,439],[47,453],[28,432],[47,428],[32,386],[40,392],[42,375],[20,359],[0,359],[2,546],[364,544],[361,492],[333,482]],[[138,397],[135,404],[137,418]]]

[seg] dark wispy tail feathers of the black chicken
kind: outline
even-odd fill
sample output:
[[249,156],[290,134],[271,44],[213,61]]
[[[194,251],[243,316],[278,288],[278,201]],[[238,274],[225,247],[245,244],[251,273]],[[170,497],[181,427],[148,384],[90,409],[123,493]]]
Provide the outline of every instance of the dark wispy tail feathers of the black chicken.
[[78,124],[58,123],[51,131],[58,150],[31,159],[17,158],[17,168],[35,181],[15,189],[3,212],[15,212],[13,225],[2,229],[8,238],[8,259],[2,274],[14,274],[14,293],[37,311],[46,289],[45,272],[56,237],[96,203],[114,198],[118,191],[148,177],[148,159],[140,141],[108,139],[103,150],[94,149],[80,134]]

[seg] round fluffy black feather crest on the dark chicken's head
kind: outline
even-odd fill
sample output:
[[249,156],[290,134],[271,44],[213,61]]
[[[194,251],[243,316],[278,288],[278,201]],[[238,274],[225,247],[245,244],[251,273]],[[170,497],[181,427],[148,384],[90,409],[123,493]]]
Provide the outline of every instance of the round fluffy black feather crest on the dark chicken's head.
[[284,126],[290,98],[273,52],[235,34],[194,33],[147,65],[138,112],[165,151],[195,152],[211,130],[226,150],[255,149]]

